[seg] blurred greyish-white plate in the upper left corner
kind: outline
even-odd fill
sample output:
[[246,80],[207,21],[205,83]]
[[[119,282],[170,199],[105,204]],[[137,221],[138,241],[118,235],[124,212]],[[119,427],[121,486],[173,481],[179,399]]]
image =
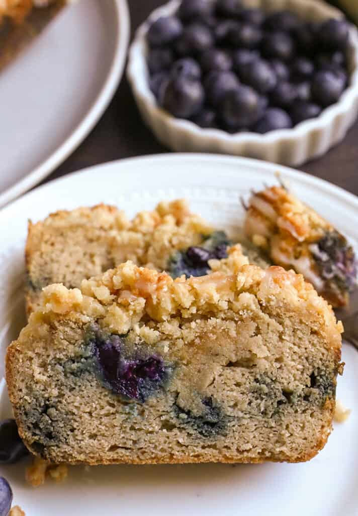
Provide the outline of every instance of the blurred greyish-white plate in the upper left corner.
[[0,74],[0,206],[89,134],[121,79],[128,39],[126,0],[82,0]]

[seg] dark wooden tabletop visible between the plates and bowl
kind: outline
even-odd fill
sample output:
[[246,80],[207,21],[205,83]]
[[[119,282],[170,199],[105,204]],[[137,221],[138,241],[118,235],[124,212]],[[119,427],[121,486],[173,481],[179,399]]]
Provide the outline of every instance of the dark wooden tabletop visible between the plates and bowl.
[[[147,15],[164,0],[128,0],[132,34]],[[123,76],[110,106],[81,146],[47,179],[113,159],[168,152],[144,125]],[[358,195],[358,121],[344,141],[325,156],[300,167]],[[143,172],[145,173],[145,171]]]

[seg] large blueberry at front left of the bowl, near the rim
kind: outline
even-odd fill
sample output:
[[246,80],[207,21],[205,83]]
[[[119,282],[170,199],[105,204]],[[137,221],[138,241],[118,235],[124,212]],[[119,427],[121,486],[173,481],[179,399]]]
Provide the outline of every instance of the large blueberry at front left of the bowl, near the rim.
[[173,77],[166,83],[161,106],[178,118],[196,115],[204,102],[204,90],[198,80],[190,77]]

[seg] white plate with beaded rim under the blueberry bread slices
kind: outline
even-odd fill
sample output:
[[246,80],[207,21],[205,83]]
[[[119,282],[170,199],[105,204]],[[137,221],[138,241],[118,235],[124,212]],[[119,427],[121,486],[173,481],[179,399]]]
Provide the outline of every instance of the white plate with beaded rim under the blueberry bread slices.
[[[0,364],[11,338],[24,324],[22,284],[27,218],[42,219],[59,208],[113,203],[132,216],[162,199],[185,197],[217,227],[240,227],[239,196],[276,183],[279,171],[291,189],[353,242],[358,243],[358,199],[342,189],[291,169],[244,158],[172,154],[127,159],[66,176],[31,191],[0,212]],[[61,485],[48,480],[38,490],[24,480],[24,465],[1,466],[14,503],[26,516],[354,516],[358,514],[358,353],[344,345],[345,374],[338,398],[353,409],[335,425],[327,446],[302,464],[160,465],[71,467]],[[1,365],[3,369],[3,365]],[[1,376],[1,372],[0,372]],[[0,418],[10,414],[5,389]]]

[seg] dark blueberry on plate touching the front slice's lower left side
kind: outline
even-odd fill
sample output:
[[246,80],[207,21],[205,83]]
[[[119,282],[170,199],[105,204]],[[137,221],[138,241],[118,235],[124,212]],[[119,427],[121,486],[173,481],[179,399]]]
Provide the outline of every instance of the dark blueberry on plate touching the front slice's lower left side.
[[26,455],[28,450],[19,436],[15,420],[0,422],[0,464],[13,464]]

